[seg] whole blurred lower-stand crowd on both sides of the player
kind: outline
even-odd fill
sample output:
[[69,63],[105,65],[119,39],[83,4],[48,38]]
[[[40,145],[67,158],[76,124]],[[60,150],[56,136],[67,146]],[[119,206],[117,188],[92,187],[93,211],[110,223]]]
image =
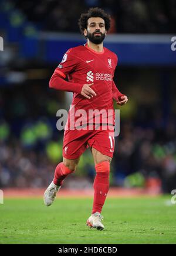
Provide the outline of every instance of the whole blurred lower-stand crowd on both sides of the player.
[[[30,89],[31,97],[35,95],[33,90],[36,90],[35,86]],[[56,111],[60,108],[59,101],[56,104],[57,94],[39,87],[41,107],[40,100],[31,101],[22,87],[16,88],[11,97],[6,92],[8,100],[5,91],[0,97],[0,187],[46,187],[53,178],[57,163],[62,161],[63,132],[56,129]],[[19,91],[21,97],[17,100]],[[47,107],[48,101],[50,108]],[[5,107],[5,102],[13,103],[13,108]],[[138,109],[141,108],[138,105]],[[155,111],[152,115],[152,110],[143,106],[143,112],[138,111],[133,121],[122,116],[111,164],[111,186],[154,188],[164,192],[174,189],[175,118],[170,117],[163,125],[159,112]],[[74,183],[81,179],[84,182],[78,182],[76,187],[89,187],[94,175],[93,158],[87,149],[70,181]],[[65,185],[69,184],[66,182]]]

